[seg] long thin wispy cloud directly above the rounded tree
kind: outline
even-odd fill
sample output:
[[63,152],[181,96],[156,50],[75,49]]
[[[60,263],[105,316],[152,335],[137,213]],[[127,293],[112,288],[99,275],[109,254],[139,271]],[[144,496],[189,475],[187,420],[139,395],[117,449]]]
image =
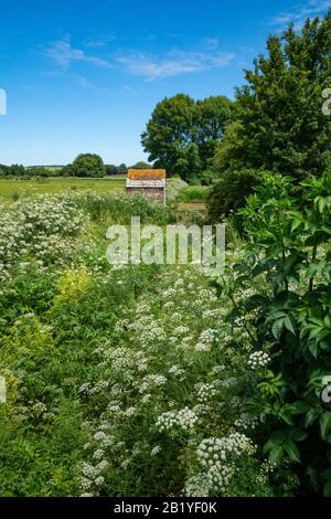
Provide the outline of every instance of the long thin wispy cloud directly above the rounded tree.
[[158,57],[139,52],[121,54],[116,57],[116,62],[136,76],[145,77],[148,81],[173,77],[180,74],[221,68],[226,66],[234,57],[228,52],[184,52],[173,50]]

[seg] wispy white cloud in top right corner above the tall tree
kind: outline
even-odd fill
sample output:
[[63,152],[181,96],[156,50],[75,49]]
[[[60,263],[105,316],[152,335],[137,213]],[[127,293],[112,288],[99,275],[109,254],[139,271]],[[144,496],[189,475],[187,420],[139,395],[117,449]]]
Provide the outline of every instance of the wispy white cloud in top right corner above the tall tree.
[[269,23],[270,25],[278,25],[284,28],[292,22],[296,29],[301,29],[307,18],[314,18],[323,14],[331,8],[331,0],[309,0],[308,2],[292,6],[288,11],[280,12],[274,17]]

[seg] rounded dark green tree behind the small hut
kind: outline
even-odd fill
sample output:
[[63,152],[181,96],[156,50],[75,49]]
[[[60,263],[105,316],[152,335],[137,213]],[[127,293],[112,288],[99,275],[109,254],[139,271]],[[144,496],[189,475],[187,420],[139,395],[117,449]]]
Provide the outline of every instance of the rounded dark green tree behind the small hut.
[[141,136],[156,167],[190,181],[207,168],[232,118],[233,104],[224,96],[195,102],[185,94],[159,103]]

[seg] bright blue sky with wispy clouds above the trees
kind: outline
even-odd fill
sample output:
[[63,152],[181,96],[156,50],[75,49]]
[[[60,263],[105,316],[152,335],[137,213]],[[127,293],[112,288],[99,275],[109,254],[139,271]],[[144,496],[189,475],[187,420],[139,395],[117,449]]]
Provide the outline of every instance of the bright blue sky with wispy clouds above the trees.
[[289,21],[331,0],[1,0],[0,163],[79,152],[128,165],[154,105],[179,92],[234,96],[243,68]]

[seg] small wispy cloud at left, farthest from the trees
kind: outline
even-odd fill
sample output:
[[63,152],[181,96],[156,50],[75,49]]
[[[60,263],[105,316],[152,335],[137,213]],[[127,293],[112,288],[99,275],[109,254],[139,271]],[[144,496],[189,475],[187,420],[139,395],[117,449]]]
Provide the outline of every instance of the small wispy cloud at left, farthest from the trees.
[[88,55],[82,49],[72,46],[70,39],[53,42],[44,50],[44,54],[60,68],[67,71],[73,63],[90,63],[100,67],[109,67],[111,64],[98,56]]

